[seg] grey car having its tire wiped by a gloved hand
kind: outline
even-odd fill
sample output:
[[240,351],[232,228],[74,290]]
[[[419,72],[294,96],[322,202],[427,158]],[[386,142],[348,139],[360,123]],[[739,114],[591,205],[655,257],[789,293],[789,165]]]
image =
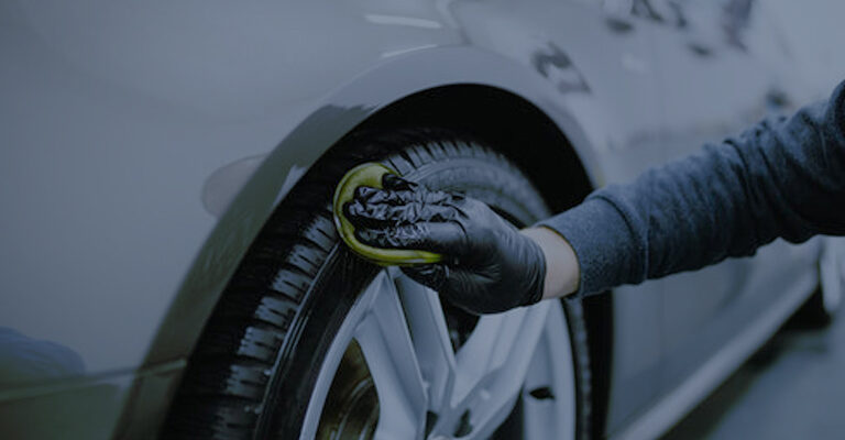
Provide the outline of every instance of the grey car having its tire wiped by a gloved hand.
[[823,97],[765,8],[2,2],[2,437],[659,436],[830,319],[836,242],[473,316],[331,195],[381,162],[530,226]]

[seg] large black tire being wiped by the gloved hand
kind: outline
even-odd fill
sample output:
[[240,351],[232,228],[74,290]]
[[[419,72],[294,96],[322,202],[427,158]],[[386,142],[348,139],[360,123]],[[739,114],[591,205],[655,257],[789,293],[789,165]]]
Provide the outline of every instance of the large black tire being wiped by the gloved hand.
[[[341,336],[348,333],[345,329],[350,328],[348,323],[352,319],[351,314],[364,307],[362,304],[364,298],[369,298],[367,295],[388,297],[378,289],[374,290],[374,283],[384,279],[394,284],[404,282],[399,278],[399,271],[380,271],[351,255],[339,244],[331,218],[330,199],[334,185],[347,169],[374,160],[430,188],[462,190],[491,205],[517,224],[530,224],[548,215],[539,193],[507,158],[485,143],[467,135],[431,129],[408,129],[348,136],[297,184],[248,252],[189,359],[162,430],[162,438],[298,439],[301,432],[311,429],[309,427],[314,424],[308,420],[315,417],[318,417],[316,432],[320,432],[320,438],[350,437],[338,435],[345,432],[343,429],[354,432],[358,436],[355,438],[369,438],[372,435],[375,429],[372,418],[377,417],[377,411],[371,407],[384,406],[373,402],[381,399],[381,373],[375,373],[375,369],[381,366],[366,356],[366,346],[355,348],[358,344],[365,345],[359,342],[364,338],[355,337],[355,343],[350,342],[342,348],[345,342],[341,341]],[[437,295],[426,295],[414,294],[413,298],[426,297],[437,301]],[[402,295],[399,297],[407,298]],[[564,429],[571,429],[577,438],[588,438],[590,366],[581,306],[567,301],[561,308],[558,302],[541,302],[539,308],[534,306],[518,309],[515,314],[539,314],[542,307],[547,307],[547,322],[558,322],[558,330],[555,331],[563,337],[568,332],[569,341],[558,341],[557,345],[563,346],[556,352],[547,341],[557,338],[548,330],[552,323],[546,323],[539,330],[540,342],[537,345],[551,348],[534,350],[526,369],[528,373],[535,374],[533,372],[544,371],[541,358],[562,355],[568,359],[564,362],[571,363],[573,386],[571,389],[547,389],[548,386],[533,385],[530,389],[519,391],[517,404],[506,407],[511,414],[507,425],[513,426],[514,420],[517,425],[525,424],[523,420],[540,417],[537,415],[545,413],[526,411],[530,408],[546,408],[545,400],[563,402],[566,394],[573,403],[570,424],[573,422],[574,428]],[[407,315],[409,306],[403,304],[402,307],[406,308],[405,319],[408,319],[404,322],[413,322]],[[470,346],[473,343],[471,341],[476,340],[472,338],[474,332],[481,331],[479,322],[487,318],[469,316],[446,304],[441,308],[452,348]],[[552,319],[555,317],[560,318]],[[362,326],[352,328],[360,331]],[[399,327],[396,327],[396,334],[399,334],[396,339],[403,340],[400,334],[407,330],[399,330]],[[416,343],[416,329],[411,331],[415,333],[408,340]],[[498,339],[496,343],[500,343]],[[342,358],[337,354],[338,346],[343,350]],[[362,359],[364,362],[360,362]],[[426,361],[422,356],[419,359]],[[348,364],[359,366],[348,367]],[[345,391],[338,389],[345,389],[341,386],[347,381],[344,377],[353,374],[348,370],[358,374],[355,377],[363,378],[351,381],[356,391],[344,394]],[[409,369],[395,370],[405,374]],[[420,374],[425,376],[425,373]],[[533,377],[539,376],[541,373]],[[330,378],[328,391],[327,377]],[[424,380],[434,381],[428,376]],[[375,385],[371,384],[369,388],[364,386],[371,382],[375,382]],[[522,384],[516,385],[523,387]],[[315,397],[320,393],[325,397]],[[334,399],[337,396],[341,398]],[[557,408],[562,404],[556,405]],[[321,409],[317,411],[314,409],[316,407]],[[359,407],[363,409],[342,409]],[[342,415],[334,420],[330,418],[334,409],[326,408],[341,408],[339,411]],[[513,411],[511,408],[514,408]],[[437,432],[446,426],[446,420],[460,421],[452,424],[457,431],[450,433],[456,437],[467,430],[481,429],[468,421],[472,420],[469,409],[460,415],[447,413],[429,410],[425,415],[426,430],[430,432],[434,429]],[[306,421],[309,425],[304,427]],[[354,428],[355,424],[360,427]],[[331,429],[334,429],[334,433],[327,435]],[[458,432],[460,430],[463,432]]]

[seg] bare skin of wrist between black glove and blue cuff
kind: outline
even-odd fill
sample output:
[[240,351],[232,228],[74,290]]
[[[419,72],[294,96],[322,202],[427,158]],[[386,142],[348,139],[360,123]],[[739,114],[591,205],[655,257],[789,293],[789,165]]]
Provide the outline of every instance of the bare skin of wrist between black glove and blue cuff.
[[537,243],[546,257],[542,299],[578,292],[581,271],[575,252],[569,242],[559,233],[545,227],[527,228],[519,232]]

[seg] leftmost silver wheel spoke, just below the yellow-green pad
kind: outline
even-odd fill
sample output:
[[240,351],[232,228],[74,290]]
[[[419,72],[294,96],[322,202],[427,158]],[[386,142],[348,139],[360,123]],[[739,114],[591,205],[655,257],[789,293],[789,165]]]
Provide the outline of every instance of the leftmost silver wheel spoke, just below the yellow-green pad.
[[428,399],[405,315],[386,272],[376,276],[364,297],[370,302],[354,338],[378,395],[376,438],[417,438]]

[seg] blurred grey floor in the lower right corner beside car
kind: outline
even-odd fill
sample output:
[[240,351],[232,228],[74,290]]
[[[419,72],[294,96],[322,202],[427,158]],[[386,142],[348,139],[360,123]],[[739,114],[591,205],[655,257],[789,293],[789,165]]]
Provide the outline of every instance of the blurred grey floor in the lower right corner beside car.
[[845,314],[788,323],[663,440],[845,438]]

